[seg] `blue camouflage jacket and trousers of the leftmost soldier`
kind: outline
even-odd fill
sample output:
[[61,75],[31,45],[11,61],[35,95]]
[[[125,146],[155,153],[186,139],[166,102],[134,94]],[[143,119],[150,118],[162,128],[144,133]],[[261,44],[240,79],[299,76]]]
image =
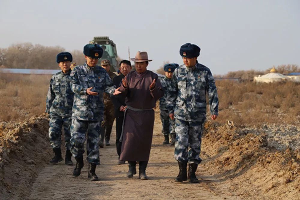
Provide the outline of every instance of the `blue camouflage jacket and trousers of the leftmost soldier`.
[[50,79],[46,98],[46,113],[49,114],[49,140],[51,148],[61,147],[61,129],[64,128],[64,140],[67,150],[70,149],[70,125],[74,93],[70,87],[70,73],[62,71]]

